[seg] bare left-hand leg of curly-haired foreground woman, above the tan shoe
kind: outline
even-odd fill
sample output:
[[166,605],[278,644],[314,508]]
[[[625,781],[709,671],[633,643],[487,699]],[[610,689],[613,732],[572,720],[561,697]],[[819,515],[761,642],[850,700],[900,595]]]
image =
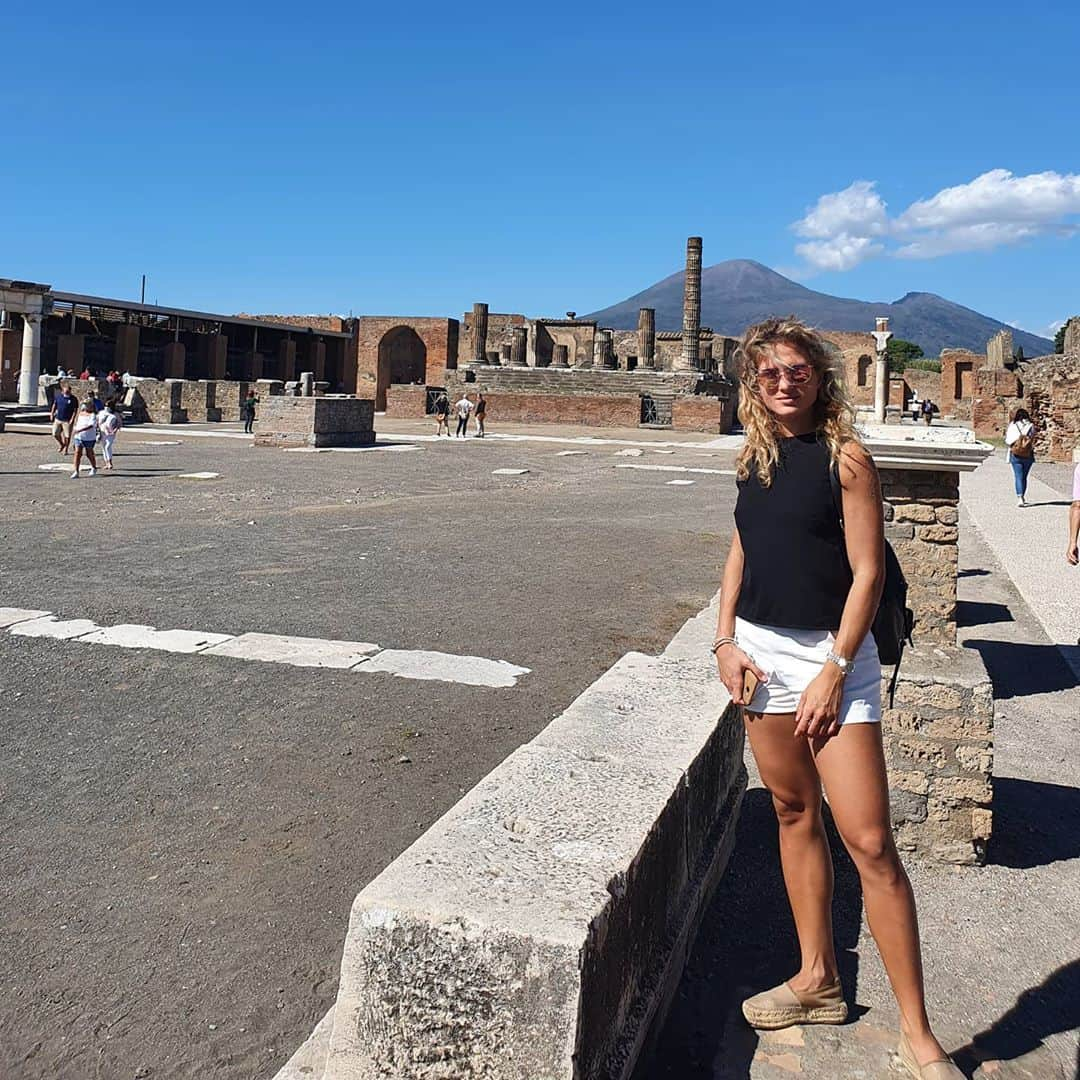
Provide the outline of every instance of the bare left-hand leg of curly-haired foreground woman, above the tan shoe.
[[810,745],[796,739],[794,713],[746,713],[746,732],[780,823],[780,861],[795,918],[801,966],[795,990],[836,982],[833,943],[833,859],[821,814],[821,781]]

